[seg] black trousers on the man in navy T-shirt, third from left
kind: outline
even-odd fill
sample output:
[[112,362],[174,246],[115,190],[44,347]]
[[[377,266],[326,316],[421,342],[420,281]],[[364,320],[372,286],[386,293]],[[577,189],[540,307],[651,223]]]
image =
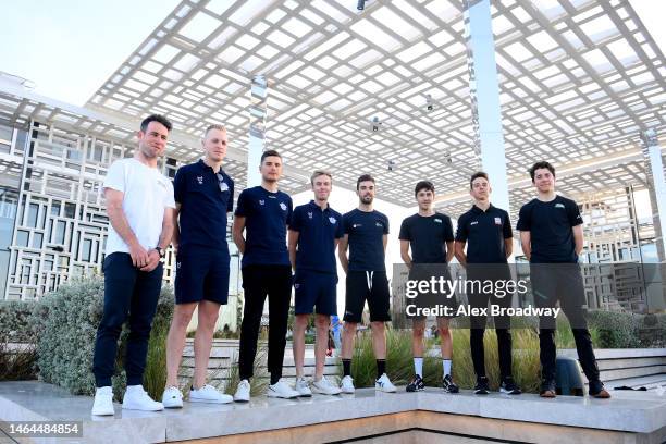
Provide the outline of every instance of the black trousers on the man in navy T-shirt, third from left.
[[250,379],[257,356],[257,340],[266,296],[269,298],[268,371],[271,379],[282,377],[282,361],[286,347],[287,318],[292,299],[292,268],[289,266],[247,266],[243,268],[245,308],[240,324],[238,373]]

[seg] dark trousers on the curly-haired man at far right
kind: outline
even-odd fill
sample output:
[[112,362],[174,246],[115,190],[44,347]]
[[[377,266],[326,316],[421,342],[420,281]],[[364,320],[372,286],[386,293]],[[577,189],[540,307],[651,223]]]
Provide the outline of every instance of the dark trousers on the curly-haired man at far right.
[[[555,307],[559,300],[559,307],[571,324],[580,366],[588,381],[599,381],[599,368],[583,307],[585,292],[578,263],[534,263],[530,266],[530,279],[536,307]],[[555,380],[555,330],[553,317],[539,318],[541,375],[544,380]]]

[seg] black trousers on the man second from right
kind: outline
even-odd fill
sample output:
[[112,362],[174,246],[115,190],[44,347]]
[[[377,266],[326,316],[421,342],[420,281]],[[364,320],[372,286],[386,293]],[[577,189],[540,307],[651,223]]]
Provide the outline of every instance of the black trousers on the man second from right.
[[[477,269],[478,268],[478,269]],[[467,271],[468,280],[510,280],[511,274],[508,267],[504,266],[476,266],[469,264]],[[486,308],[490,301],[501,307],[510,307],[513,294],[497,297],[495,294],[471,293],[468,297],[469,305],[473,308]],[[504,380],[511,375],[511,320],[508,316],[495,316],[495,333],[497,334],[497,350],[499,355],[499,378]],[[485,349],[483,347],[483,335],[488,316],[471,316],[469,345],[471,348],[472,362],[477,378],[485,377]]]

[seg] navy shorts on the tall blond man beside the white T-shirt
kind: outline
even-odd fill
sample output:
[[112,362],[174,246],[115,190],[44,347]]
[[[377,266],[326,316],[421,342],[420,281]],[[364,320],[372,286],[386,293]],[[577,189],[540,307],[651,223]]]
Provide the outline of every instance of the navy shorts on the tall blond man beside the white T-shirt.
[[176,304],[211,300],[226,304],[229,298],[229,251],[187,246],[176,256]]

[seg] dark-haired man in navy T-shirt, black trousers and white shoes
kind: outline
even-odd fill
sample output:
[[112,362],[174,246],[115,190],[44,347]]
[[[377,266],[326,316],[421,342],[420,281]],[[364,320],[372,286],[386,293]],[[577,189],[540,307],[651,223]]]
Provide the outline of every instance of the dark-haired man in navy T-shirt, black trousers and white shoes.
[[[261,155],[261,185],[247,188],[238,196],[233,236],[243,255],[242,273],[245,308],[240,325],[238,372],[240,382],[236,402],[248,402],[249,379],[257,355],[257,340],[263,303],[269,299],[268,371],[271,381],[268,396],[292,398],[298,392],[281,380],[286,346],[287,318],[292,299],[292,267],[286,246],[287,225],[292,220],[292,198],[278,189],[282,175],[282,157],[268,150]],[[246,232],[245,237],[243,232]]]

